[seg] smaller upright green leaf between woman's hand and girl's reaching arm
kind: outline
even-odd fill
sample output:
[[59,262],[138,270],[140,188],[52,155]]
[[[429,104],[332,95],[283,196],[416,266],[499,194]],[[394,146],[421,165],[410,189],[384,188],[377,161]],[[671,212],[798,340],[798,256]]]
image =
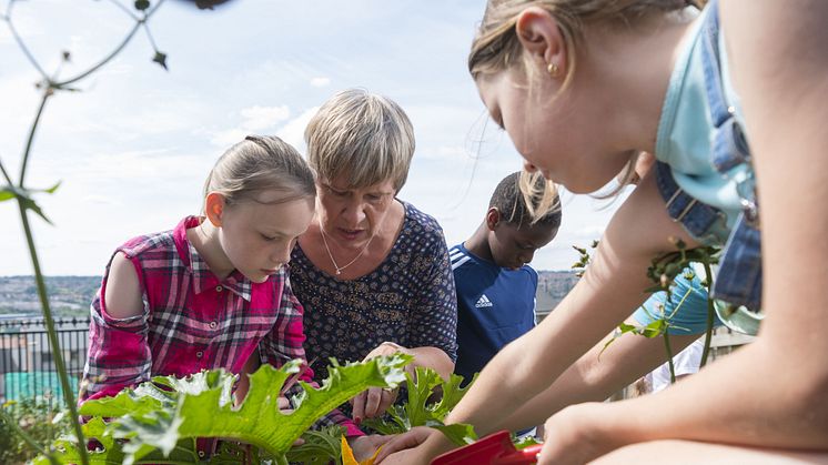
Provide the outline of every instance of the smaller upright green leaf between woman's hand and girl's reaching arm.
[[[456,445],[471,444],[477,439],[472,425],[457,423],[446,425],[446,415],[460,403],[477,375],[465,387],[461,387],[463,376],[452,374],[443,380],[437,372],[417,366],[416,375],[406,373],[407,402],[392,405],[381,418],[370,418],[363,425],[380,434],[400,434],[415,426],[430,426],[441,431]],[[438,397],[437,401],[434,401]]]

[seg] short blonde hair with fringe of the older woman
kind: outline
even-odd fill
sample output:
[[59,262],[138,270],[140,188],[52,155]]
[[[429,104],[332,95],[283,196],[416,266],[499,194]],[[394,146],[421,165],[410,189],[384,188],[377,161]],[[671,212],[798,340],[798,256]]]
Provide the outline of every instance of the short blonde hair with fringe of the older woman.
[[402,108],[364,89],[326,101],[305,129],[307,159],[320,178],[347,175],[347,188],[392,180],[400,191],[414,154],[414,129]]

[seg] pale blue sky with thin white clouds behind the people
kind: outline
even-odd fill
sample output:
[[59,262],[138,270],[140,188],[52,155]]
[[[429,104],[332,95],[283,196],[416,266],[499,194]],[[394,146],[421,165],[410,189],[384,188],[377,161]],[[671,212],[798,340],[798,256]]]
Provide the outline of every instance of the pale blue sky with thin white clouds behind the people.
[[[111,1],[19,1],[13,23],[47,72],[60,52],[68,78],[105,55],[131,28]],[[132,8],[132,1],[121,0]],[[154,1],[153,1],[154,3]],[[6,11],[8,0],[0,1]],[[28,186],[62,181],[38,201],[54,226],[32,220],[46,274],[100,274],[115,246],[195,214],[215,159],[248,133],[277,134],[304,153],[302,133],[339,90],[362,87],[397,101],[417,149],[400,198],[435,216],[451,246],[467,239],[497,182],[521,166],[488,121],[466,71],[485,1],[236,0],[214,11],[166,1],[150,28],[81,92],[50,100]],[[0,160],[20,170],[39,94],[38,73],[0,22]],[[597,239],[615,204],[564,194],[558,237],[536,254],[568,269],[573,244]],[[31,274],[17,205],[0,203],[0,275]]]

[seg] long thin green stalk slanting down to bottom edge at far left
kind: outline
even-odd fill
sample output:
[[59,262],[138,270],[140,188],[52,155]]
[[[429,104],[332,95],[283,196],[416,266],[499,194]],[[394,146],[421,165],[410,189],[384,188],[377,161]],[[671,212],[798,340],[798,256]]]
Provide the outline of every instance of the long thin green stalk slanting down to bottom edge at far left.
[[74,395],[72,394],[72,386],[69,384],[69,376],[67,376],[67,365],[63,363],[63,353],[60,350],[60,341],[58,334],[54,332],[54,321],[52,320],[52,311],[49,307],[49,297],[47,295],[46,283],[43,282],[43,273],[40,270],[40,261],[38,260],[38,251],[34,247],[34,237],[32,235],[31,226],[29,224],[29,216],[23,206],[23,201],[18,198],[18,206],[20,208],[20,220],[23,223],[23,231],[26,232],[26,241],[29,245],[29,253],[31,255],[32,266],[34,267],[34,280],[38,285],[38,295],[40,296],[40,305],[43,309],[43,320],[46,321],[47,332],[49,333],[49,343],[52,346],[52,358],[54,365],[58,368],[58,375],[60,375],[60,384],[63,387],[63,400],[69,407],[71,415],[72,425],[74,426],[74,434],[78,437],[78,451],[81,455],[81,463],[89,465],[89,454],[87,453],[87,441],[83,437],[83,431],[78,418],[78,407],[74,405]]

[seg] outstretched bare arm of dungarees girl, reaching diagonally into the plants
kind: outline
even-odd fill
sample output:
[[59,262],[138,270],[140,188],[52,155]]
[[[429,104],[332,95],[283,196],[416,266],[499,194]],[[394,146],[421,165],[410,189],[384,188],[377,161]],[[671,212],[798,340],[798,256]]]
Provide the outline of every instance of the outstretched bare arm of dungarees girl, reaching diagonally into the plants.
[[[503,428],[509,413],[545,391],[640,305],[649,284],[646,269],[654,256],[674,250],[670,235],[695,244],[669,219],[648,175],[613,218],[584,279],[546,320],[486,365],[446,423],[471,423],[478,435]],[[435,434],[401,459],[415,463],[448,448]]]

